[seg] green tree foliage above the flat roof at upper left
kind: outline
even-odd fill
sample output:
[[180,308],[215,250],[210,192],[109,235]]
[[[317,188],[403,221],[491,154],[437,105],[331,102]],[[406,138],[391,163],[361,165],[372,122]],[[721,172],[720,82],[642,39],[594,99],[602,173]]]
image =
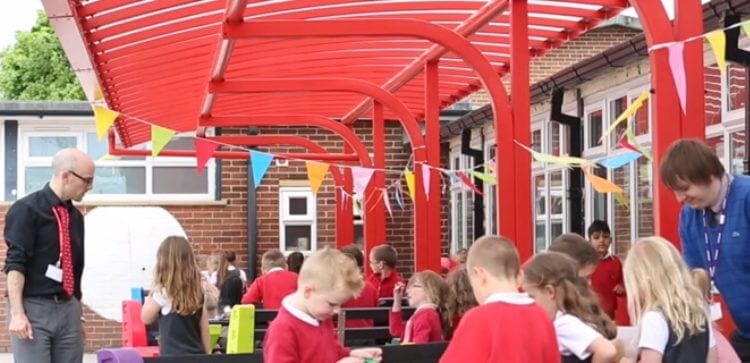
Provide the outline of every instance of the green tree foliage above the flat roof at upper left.
[[30,31],[2,54],[0,93],[9,100],[83,100],[85,95],[49,20],[39,11]]

